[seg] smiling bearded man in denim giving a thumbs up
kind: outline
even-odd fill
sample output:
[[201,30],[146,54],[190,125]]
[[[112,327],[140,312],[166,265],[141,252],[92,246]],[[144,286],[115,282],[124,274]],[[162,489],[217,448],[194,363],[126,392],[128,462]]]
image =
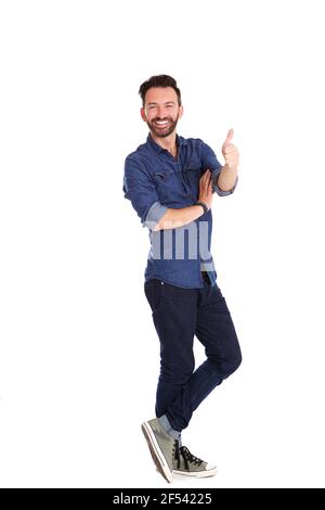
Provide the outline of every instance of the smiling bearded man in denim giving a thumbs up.
[[[182,446],[181,432],[204,398],[242,361],[210,254],[212,193],[233,193],[238,151],[232,129],[222,146],[223,166],[202,140],[177,135],[183,106],[170,76],[151,77],[139,93],[150,135],[126,158],[123,192],[150,230],[144,292],[160,341],[156,418],[144,422],[142,431],[168,482],[173,473],[211,476],[216,467]],[[194,335],[207,356],[195,371]]]

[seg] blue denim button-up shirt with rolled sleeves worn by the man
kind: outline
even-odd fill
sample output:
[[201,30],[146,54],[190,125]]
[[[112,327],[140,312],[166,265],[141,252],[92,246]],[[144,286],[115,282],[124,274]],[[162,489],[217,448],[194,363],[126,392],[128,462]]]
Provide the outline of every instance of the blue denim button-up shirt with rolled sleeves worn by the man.
[[188,225],[153,231],[170,208],[193,205],[198,200],[199,178],[209,168],[213,191],[225,196],[217,184],[221,164],[209,145],[199,139],[177,136],[178,156],[162,149],[148,135],[146,143],[129,154],[125,164],[123,193],[150,230],[151,250],[144,272],[145,281],[158,278],[185,289],[203,288],[202,271],[210,283],[217,272],[210,254],[212,213],[202,215]]

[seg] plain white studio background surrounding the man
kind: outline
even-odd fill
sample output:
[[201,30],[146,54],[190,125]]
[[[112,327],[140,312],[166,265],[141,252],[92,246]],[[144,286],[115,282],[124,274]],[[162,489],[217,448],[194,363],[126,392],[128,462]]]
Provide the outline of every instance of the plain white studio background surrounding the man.
[[164,73],[178,132],[223,162],[233,127],[240,151],[212,253],[244,361],[184,432],[218,475],[173,487],[324,487],[323,3],[0,2],[1,486],[166,487],[140,429],[148,238],[122,194]]

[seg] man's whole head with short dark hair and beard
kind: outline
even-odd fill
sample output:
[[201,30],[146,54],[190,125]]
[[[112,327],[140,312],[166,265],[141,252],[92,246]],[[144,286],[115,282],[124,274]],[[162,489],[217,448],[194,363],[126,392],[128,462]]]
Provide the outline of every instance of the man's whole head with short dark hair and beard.
[[151,131],[159,138],[171,135],[183,114],[181,91],[171,76],[152,76],[139,90],[141,116]]

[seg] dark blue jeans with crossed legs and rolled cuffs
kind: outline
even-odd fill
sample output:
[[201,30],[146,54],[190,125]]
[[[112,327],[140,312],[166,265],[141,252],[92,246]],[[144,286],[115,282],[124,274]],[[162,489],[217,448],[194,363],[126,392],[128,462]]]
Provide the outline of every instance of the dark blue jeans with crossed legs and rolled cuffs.
[[[171,426],[182,431],[198,405],[239,367],[236,331],[219,286],[205,278],[203,289],[152,279],[144,292],[160,341],[156,416],[166,415]],[[194,335],[207,356],[195,371]]]

